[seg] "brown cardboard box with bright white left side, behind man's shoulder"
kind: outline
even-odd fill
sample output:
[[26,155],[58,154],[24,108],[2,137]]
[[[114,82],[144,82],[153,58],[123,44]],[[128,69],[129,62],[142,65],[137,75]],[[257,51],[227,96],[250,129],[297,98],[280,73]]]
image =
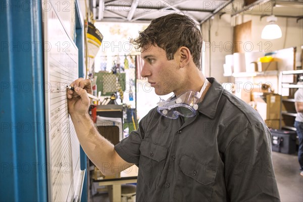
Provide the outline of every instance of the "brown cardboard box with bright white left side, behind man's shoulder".
[[256,97],[256,110],[263,120],[275,120],[281,118],[281,95],[267,94]]

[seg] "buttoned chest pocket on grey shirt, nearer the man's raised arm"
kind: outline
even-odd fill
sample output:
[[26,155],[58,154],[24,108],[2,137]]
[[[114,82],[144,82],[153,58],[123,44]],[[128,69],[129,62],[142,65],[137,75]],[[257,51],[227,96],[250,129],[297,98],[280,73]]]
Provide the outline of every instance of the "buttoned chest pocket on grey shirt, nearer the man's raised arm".
[[167,148],[142,141],[140,145],[139,176],[150,188],[157,188],[165,165]]

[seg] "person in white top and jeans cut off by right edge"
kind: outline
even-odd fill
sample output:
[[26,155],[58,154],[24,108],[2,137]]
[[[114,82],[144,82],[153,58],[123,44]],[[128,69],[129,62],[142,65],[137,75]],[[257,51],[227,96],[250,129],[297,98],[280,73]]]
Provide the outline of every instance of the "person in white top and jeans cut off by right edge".
[[[298,82],[297,84],[302,85],[303,83]],[[300,175],[303,177],[303,88],[298,88],[294,93],[294,107],[297,112],[294,127],[299,137],[298,161],[300,164]]]

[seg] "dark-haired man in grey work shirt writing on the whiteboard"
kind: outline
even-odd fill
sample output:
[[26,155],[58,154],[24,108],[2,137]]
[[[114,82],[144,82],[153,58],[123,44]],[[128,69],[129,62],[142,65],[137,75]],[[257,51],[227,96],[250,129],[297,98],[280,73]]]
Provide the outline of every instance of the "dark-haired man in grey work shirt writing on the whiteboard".
[[114,146],[87,114],[90,81],[74,81],[80,87],[68,91],[69,113],[91,161],[104,174],[136,164],[138,201],[279,201],[269,129],[254,109],[201,73],[202,37],[194,22],[163,16],[132,42],[141,48],[141,76],[158,95],[175,95]]

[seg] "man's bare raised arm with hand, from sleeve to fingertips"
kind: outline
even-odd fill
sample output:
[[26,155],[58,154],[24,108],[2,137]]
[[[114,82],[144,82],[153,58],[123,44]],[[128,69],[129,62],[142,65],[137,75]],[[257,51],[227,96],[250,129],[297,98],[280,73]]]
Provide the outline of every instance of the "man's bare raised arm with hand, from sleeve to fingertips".
[[116,153],[109,140],[99,134],[88,115],[90,99],[87,93],[92,92],[91,81],[79,78],[71,86],[75,91],[67,90],[69,114],[88,158],[104,175],[113,175],[132,166]]

